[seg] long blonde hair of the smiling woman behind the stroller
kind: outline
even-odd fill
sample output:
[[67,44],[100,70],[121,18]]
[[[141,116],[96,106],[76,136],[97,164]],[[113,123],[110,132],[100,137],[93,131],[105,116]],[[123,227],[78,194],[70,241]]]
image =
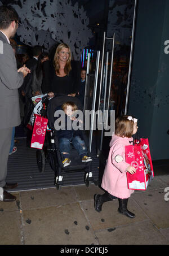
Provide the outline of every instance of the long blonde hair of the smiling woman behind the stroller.
[[64,67],[64,72],[66,73],[66,75],[69,75],[69,72],[70,70],[72,69],[71,68],[71,64],[70,64],[70,61],[71,61],[71,51],[70,51],[70,47],[68,45],[66,45],[65,43],[61,43],[57,46],[56,48],[56,51],[55,51],[55,56],[54,56],[54,67],[55,67],[55,72],[57,74],[59,74],[59,70],[60,70],[60,66],[59,66],[59,51],[61,51],[63,48],[68,48],[69,49],[69,59],[67,60],[66,62],[66,65]]

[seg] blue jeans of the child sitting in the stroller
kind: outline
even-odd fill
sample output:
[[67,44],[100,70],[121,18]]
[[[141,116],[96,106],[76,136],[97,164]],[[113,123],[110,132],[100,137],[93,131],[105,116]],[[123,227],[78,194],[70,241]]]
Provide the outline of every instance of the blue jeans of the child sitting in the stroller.
[[[81,155],[81,157],[84,157],[84,155],[87,155],[87,147],[85,142],[79,136],[74,136],[74,137],[72,136],[72,138],[62,137],[59,139],[59,149],[62,157],[69,158],[71,141],[75,149],[78,151],[78,154]],[[63,154],[63,152],[68,154]]]

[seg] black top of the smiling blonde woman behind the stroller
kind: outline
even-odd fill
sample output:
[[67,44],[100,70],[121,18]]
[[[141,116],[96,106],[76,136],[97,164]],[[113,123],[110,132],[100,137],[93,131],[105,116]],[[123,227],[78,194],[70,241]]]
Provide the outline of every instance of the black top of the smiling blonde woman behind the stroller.
[[55,94],[70,94],[78,93],[81,86],[81,66],[78,62],[71,61],[72,70],[69,75],[60,77],[57,76],[53,69],[51,79],[51,92]]

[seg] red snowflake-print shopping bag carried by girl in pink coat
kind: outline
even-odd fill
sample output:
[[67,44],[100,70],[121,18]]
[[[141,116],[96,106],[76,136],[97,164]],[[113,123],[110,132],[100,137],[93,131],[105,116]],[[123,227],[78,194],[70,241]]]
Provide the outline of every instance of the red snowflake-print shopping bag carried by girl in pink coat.
[[154,177],[152,158],[148,138],[141,138],[139,144],[125,146],[126,162],[136,168],[136,172],[127,172],[128,189],[146,190]]

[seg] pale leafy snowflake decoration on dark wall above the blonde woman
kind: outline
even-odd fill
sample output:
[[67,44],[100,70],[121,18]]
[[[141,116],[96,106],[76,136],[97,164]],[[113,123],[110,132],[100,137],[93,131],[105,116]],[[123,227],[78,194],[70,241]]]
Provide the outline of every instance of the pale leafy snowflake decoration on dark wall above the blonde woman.
[[19,0],[13,7],[20,16],[17,34],[26,45],[43,45],[49,50],[56,42],[65,42],[74,60],[79,60],[93,36],[83,6],[72,6],[70,0]]

